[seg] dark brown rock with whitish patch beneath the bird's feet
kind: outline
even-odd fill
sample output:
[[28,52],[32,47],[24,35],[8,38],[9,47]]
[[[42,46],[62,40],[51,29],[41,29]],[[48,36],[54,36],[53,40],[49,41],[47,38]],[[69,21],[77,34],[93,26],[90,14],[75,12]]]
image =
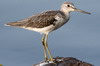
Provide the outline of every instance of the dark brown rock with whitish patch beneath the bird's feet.
[[56,57],[54,62],[43,61],[33,66],[93,66],[90,63],[80,61],[73,57]]

